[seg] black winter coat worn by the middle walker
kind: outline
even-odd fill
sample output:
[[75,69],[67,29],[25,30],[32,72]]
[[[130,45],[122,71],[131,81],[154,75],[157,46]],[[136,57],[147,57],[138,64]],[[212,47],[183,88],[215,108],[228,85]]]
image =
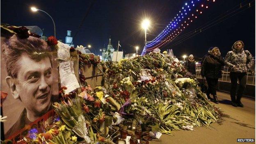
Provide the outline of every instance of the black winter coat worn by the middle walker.
[[213,55],[208,55],[203,61],[201,75],[206,78],[221,78],[222,66],[224,66],[222,56],[214,57]]

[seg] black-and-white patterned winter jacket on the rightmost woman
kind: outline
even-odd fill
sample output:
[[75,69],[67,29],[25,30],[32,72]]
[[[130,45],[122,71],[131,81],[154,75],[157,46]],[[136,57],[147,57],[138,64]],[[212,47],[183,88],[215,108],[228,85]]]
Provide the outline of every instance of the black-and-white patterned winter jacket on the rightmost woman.
[[231,68],[231,72],[246,73],[254,65],[254,58],[248,50],[239,51],[232,48],[225,57],[225,64]]

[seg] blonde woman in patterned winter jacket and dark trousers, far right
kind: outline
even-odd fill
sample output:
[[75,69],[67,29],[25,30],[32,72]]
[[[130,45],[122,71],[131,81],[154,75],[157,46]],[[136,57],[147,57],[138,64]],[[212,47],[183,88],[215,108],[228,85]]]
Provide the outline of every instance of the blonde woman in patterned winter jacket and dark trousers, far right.
[[[229,66],[230,80],[231,80],[231,104],[234,107],[243,107],[241,98],[247,83],[247,72],[254,65],[254,58],[248,50],[244,50],[244,43],[242,41],[235,41],[232,46],[232,51],[229,51],[225,57],[225,64]],[[237,80],[239,80],[239,89],[237,97],[235,98]]]

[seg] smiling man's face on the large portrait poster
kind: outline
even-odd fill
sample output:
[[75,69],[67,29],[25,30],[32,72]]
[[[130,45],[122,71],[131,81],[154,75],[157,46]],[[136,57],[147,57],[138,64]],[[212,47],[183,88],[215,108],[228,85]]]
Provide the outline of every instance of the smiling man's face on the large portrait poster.
[[53,85],[49,57],[37,62],[26,54],[22,55],[14,84],[17,93],[14,98],[20,98],[27,111],[34,115],[47,112],[51,104]]

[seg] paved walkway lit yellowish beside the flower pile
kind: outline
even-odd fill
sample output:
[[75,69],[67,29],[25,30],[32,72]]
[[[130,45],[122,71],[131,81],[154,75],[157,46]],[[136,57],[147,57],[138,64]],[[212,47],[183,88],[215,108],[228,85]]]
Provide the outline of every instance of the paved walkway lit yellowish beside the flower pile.
[[162,135],[150,144],[255,144],[237,142],[238,138],[255,139],[255,100],[242,98],[245,107],[233,107],[229,93],[217,92],[219,104],[215,104],[231,118],[224,117],[222,125],[213,123],[215,129],[194,128],[194,131],[175,130],[174,136]]

